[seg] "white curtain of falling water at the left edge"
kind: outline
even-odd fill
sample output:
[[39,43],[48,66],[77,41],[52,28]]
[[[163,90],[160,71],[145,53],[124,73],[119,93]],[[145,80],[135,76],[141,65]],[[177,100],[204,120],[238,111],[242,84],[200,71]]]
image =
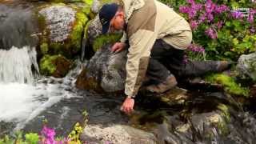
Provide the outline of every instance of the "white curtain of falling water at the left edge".
[[39,72],[34,48],[12,46],[10,50],[0,50],[0,82],[32,83],[32,66]]

